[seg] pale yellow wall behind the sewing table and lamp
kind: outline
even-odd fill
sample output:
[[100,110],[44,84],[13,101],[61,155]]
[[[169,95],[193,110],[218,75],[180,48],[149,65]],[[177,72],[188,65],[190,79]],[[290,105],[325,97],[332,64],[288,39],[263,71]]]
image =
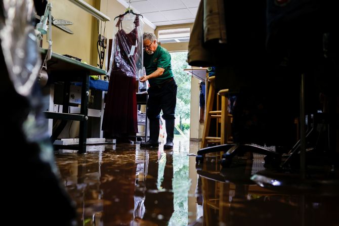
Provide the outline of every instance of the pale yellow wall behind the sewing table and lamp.
[[[91,6],[97,8],[102,13],[111,18],[111,21],[106,22],[105,37],[113,37],[113,26],[115,23],[112,21],[114,17],[124,12],[123,7],[116,0],[84,0]],[[68,0],[50,0],[52,3],[52,15],[55,19],[64,19],[73,22],[72,25],[67,25],[74,34],[69,34],[56,26],[52,26],[52,50],[58,54],[68,54],[86,61],[88,64],[97,66],[98,53],[97,53],[97,19],[88,12],[80,9]],[[107,6],[107,7],[106,7]],[[144,31],[154,32],[147,24],[144,24]],[[104,23],[102,23],[104,29]],[[43,48],[48,47],[46,42],[47,37],[44,35]],[[108,56],[106,50],[105,58]],[[105,62],[105,61],[104,61]],[[104,68],[105,69],[105,64]]]

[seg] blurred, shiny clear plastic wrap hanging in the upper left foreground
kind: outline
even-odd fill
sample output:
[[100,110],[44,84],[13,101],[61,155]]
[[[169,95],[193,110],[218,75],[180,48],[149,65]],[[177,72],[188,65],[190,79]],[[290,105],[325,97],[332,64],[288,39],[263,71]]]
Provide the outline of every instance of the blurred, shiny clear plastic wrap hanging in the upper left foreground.
[[30,94],[40,69],[40,55],[32,26],[33,1],[3,1],[4,20],[0,20],[0,38],[5,63],[16,92]]

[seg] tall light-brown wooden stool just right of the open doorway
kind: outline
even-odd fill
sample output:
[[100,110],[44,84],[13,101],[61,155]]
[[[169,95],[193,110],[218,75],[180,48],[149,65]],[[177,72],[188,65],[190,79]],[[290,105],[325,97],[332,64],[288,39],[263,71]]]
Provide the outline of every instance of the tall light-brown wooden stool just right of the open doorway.
[[[228,89],[222,89],[218,95],[221,96],[221,110],[217,109],[213,111],[213,103],[215,98],[215,76],[211,76],[208,78],[209,87],[208,87],[208,96],[206,103],[206,112],[205,112],[205,122],[204,129],[202,134],[202,143],[201,148],[207,147],[207,144],[227,144],[231,143],[231,121],[232,115],[228,114],[228,98],[226,94],[228,93]],[[207,84],[206,84],[207,85]],[[219,104],[217,104],[217,108],[219,108]],[[208,137],[209,127],[211,118],[217,119],[217,124],[221,123],[221,134],[220,137]],[[217,132],[218,136],[218,126]]]

